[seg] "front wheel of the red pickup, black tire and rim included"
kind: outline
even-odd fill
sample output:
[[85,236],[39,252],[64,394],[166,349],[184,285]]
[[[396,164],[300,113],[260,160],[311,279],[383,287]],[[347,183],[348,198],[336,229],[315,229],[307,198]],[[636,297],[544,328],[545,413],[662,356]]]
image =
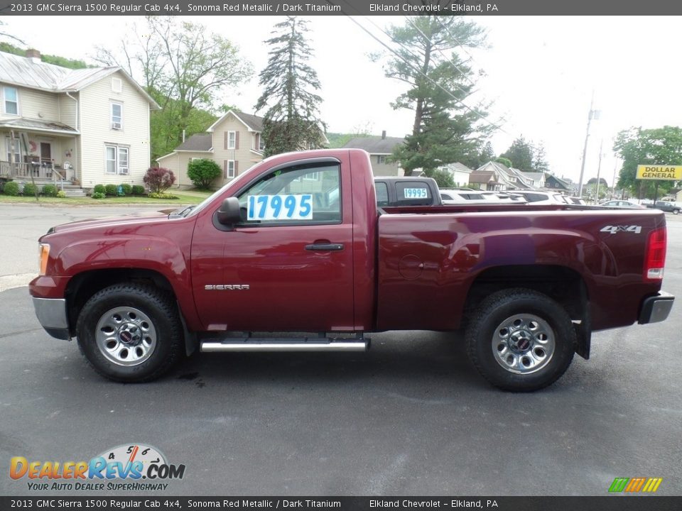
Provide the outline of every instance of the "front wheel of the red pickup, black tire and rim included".
[[153,286],[117,284],[95,293],[80,311],[76,336],[97,373],[125,383],[155,380],[183,353],[178,308]]

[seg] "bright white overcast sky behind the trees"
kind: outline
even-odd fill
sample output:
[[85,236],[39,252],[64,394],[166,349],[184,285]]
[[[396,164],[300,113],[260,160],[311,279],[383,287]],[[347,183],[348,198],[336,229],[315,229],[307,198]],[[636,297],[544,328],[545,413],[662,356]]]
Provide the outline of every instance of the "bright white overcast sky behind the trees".
[[[260,94],[257,74],[267,62],[262,42],[281,17],[182,16],[239,45],[254,65],[254,78],[230,90],[220,103],[253,113]],[[322,84],[322,118],[328,131],[349,133],[369,128],[374,134],[405,136],[413,112],[394,111],[390,103],[404,86],[384,77],[370,53],[385,50],[371,35],[345,16],[309,16],[310,64]],[[406,23],[404,16],[358,16],[357,23],[386,41],[382,29]],[[585,158],[584,182],[596,177],[600,145],[600,177],[611,185],[619,161],[613,138],[632,126],[658,128],[682,125],[682,66],[676,16],[481,16],[474,20],[487,31],[488,48],[462,55],[482,71],[477,92],[467,99],[491,104],[488,119],[500,127],[491,138],[503,153],[523,136],[542,144],[556,175],[575,182],[580,176],[585,135],[592,121]],[[109,46],[138,16],[11,16],[6,33],[42,53],[92,62],[95,46]],[[263,112],[259,112],[262,114]]]

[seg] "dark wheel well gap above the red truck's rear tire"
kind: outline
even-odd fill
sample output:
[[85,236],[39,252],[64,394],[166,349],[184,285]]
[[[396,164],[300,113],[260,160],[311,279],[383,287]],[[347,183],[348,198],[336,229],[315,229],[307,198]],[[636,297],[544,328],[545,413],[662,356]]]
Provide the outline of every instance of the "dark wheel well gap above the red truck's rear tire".
[[524,287],[551,297],[561,304],[574,321],[588,321],[588,287],[571,268],[561,265],[507,265],[482,271],[467,292],[465,315],[468,317],[485,297],[511,287]]

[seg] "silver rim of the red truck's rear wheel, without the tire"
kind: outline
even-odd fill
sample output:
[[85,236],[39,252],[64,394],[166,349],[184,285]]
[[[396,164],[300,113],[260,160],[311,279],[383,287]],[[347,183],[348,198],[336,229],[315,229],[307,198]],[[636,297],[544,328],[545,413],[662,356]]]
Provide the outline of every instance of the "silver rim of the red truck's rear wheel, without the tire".
[[492,334],[493,356],[509,373],[536,373],[551,361],[555,348],[552,327],[534,314],[508,317]]

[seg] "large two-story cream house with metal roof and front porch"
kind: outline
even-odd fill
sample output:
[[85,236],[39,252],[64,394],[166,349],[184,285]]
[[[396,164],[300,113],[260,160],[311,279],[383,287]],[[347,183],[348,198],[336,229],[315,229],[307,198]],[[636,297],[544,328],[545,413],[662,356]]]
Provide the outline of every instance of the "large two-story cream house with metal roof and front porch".
[[0,177],[143,184],[159,106],[120,67],[71,70],[0,53]]

